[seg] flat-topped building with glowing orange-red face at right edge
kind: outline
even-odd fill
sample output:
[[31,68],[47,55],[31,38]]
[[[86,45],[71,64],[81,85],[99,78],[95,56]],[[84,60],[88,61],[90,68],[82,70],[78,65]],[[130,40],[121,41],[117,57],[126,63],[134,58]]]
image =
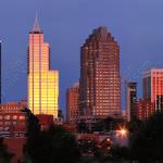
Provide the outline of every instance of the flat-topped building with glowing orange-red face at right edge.
[[154,110],[163,110],[163,70],[152,68],[143,72],[143,99],[154,103]]

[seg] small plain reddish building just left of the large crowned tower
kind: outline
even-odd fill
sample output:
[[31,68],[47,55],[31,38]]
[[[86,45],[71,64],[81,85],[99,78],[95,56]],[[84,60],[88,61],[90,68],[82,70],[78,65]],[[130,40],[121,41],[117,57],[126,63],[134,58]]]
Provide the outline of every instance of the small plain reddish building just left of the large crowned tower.
[[79,85],[75,84],[66,90],[66,121],[76,124],[79,113]]

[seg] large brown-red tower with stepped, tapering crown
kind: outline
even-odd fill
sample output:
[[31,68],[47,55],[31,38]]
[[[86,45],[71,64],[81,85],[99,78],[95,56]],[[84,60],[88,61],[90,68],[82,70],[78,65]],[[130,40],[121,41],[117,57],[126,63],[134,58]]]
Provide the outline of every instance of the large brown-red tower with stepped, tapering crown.
[[79,108],[82,115],[105,118],[121,111],[120,47],[99,27],[80,49]]

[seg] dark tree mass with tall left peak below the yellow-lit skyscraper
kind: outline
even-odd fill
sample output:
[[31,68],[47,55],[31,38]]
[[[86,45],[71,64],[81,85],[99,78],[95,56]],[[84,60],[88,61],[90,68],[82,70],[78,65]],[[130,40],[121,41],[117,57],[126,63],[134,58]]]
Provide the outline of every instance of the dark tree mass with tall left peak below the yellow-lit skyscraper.
[[79,150],[75,137],[61,126],[40,130],[37,117],[28,110],[26,158],[32,163],[76,163]]

